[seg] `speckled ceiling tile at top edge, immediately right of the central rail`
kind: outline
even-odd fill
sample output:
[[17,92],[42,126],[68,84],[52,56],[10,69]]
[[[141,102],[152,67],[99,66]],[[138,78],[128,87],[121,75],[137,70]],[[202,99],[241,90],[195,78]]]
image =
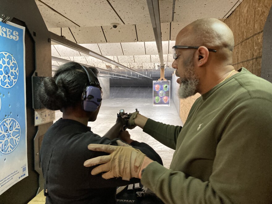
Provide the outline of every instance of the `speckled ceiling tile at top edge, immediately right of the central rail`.
[[159,15],[161,23],[172,22],[173,0],[159,0]]

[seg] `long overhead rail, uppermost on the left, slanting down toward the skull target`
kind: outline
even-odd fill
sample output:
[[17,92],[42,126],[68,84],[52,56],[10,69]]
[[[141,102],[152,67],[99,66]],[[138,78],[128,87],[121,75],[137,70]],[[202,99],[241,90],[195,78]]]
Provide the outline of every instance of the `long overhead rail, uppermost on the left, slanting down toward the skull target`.
[[95,58],[100,59],[100,60],[102,60],[104,62],[108,62],[108,63],[110,63],[112,65],[118,66],[120,68],[123,68],[123,69],[131,71],[131,72],[134,72],[134,73],[136,73],[136,74],[138,74],[140,76],[144,76],[144,77],[147,77],[149,79],[152,79],[149,76],[141,74],[141,73],[139,73],[139,72],[137,72],[137,71],[135,71],[133,69],[130,69],[130,68],[118,63],[118,62],[115,62],[115,61],[113,61],[113,60],[111,60],[111,59],[109,59],[107,57],[104,57],[104,56],[96,53],[96,52],[93,52],[90,49],[87,49],[87,48],[85,48],[85,47],[83,47],[83,46],[81,46],[79,44],[76,44],[76,43],[74,43],[74,42],[72,42],[70,40],[67,40],[67,39],[63,38],[62,36],[58,36],[57,34],[55,34],[53,32],[49,31],[49,34],[50,34],[51,41],[54,42],[54,43],[57,43],[59,45],[63,45],[63,46],[68,47],[70,49],[74,49],[74,50],[79,51],[81,53],[87,54],[87,55],[89,55],[91,57],[95,57]]

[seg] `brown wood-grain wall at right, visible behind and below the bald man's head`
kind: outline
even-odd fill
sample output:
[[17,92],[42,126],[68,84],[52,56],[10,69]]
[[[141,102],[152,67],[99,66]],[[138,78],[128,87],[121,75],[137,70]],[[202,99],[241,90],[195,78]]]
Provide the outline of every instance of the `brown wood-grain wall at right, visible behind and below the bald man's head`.
[[[263,28],[272,0],[243,0],[224,20],[234,35],[233,66],[236,70],[245,67],[251,73],[261,76]],[[196,94],[180,101],[180,118],[185,123]]]

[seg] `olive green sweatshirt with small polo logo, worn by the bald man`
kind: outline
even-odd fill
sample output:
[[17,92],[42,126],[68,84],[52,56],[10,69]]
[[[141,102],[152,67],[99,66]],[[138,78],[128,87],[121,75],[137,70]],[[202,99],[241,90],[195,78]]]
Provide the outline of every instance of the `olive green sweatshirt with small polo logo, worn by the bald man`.
[[170,169],[152,162],[141,179],[165,203],[272,203],[272,84],[238,71],[183,127],[147,120],[143,131],[175,149]]

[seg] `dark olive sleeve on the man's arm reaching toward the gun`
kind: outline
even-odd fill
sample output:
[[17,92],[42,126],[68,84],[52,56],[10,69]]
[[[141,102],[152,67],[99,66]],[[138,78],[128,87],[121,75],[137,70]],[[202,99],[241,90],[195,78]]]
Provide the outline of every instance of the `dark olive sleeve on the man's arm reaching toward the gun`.
[[166,125],[148,118],[143,132],[149,134],[165,146],[175,150],[176,141],[181,132],[181,128],[181,126]]

